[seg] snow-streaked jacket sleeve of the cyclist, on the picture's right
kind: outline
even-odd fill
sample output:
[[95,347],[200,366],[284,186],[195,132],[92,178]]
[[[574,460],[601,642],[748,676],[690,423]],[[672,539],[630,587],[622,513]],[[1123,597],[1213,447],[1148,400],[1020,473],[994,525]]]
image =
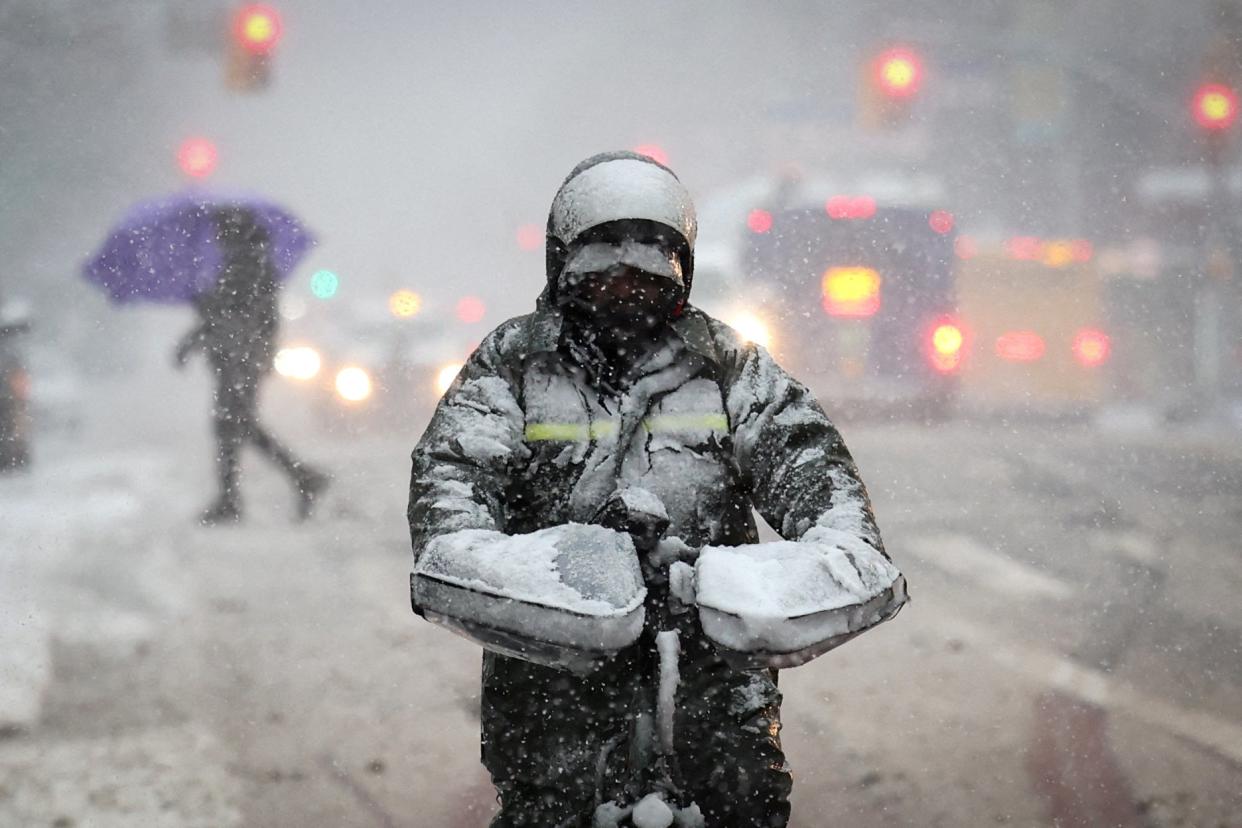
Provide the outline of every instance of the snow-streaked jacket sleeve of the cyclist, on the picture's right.
[[732,331],[717,341],[734,458],[759,514],[785,540],[862,542],[887,559],[858,468],[811,392],[763,348]]

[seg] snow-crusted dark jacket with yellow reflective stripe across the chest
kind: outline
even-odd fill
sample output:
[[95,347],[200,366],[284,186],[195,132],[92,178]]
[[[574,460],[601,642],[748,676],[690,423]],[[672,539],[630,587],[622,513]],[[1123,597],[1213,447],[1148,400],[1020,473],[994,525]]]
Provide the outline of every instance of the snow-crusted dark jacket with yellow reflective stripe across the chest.
[[840,433],[763,348],[687,307],[610,395],[559,348],[560,326],[544,303],[505,322],[441,400],[412,457],[416,559],[447,533],[591,523],[625,487],[657,495],[691,547],[758,541],[754,506],[786,540],[883,555]]

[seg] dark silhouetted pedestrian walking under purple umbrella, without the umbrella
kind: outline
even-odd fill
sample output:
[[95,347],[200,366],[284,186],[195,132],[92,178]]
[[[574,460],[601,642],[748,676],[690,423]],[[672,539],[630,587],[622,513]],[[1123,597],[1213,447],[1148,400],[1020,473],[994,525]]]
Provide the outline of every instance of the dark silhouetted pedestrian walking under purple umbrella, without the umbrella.
[[310,516],[328,477],[306,466],[258,421],[258,386],[272,369],[278,328],[274,266],[267,253],[267,231],[245,207],[215,211],[224,258],[214,290],[195,297],[195,325],[178,343],[175,361],[184,367],[195,350],[206,353],[215,372],[212,425],[220,494],[200,516],[211,525],[241,518],[238,473],[241,448],[251,443],[288,474],[297,492],[298,516]]

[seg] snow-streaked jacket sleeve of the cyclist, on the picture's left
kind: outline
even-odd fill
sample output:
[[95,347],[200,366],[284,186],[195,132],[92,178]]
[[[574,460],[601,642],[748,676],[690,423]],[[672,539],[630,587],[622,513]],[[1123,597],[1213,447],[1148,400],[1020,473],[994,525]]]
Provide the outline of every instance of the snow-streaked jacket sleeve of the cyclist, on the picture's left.
[[515,366],[499,349],[504,330],[471,355],[414,449],[407,516],[415,560],[437,535],[504,531],[504,489],[528,451]]

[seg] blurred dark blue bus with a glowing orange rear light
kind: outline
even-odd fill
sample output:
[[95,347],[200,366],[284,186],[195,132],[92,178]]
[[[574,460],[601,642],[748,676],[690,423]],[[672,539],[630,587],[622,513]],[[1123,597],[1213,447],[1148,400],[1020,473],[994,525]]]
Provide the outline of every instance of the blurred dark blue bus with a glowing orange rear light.
[[869,195],[751,211],[740,266],[777,360],[836,412],[946,413],[965,346],[953,225]]

